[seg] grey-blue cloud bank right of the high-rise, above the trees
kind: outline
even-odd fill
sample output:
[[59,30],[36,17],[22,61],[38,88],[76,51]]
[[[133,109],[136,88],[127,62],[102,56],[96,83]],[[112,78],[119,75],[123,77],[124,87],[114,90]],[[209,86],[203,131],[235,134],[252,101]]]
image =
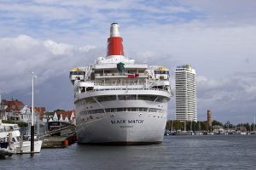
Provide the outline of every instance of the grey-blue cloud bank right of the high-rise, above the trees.
[[215,119],[247,122],[255,116],[255,75],[241,72],[218,79],[198,77],[199,115],[206,117],[207,109],[212,109]]

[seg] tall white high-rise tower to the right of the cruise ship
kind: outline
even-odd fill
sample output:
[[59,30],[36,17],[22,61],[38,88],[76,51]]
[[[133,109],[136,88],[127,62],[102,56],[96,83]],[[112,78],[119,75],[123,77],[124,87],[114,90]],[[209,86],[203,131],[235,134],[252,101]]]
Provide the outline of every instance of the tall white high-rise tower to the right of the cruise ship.
[[191,65],[177,66],[175,88],[176,120],[197,122],[196,73]]

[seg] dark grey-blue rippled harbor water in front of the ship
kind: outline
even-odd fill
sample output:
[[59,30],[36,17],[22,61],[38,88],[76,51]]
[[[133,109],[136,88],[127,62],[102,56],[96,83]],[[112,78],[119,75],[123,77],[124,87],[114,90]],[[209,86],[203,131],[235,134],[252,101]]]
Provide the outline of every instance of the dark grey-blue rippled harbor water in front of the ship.
[[0,160],[0,169],[255,169],[256,135],[166,136],[162,144],[73,144]]

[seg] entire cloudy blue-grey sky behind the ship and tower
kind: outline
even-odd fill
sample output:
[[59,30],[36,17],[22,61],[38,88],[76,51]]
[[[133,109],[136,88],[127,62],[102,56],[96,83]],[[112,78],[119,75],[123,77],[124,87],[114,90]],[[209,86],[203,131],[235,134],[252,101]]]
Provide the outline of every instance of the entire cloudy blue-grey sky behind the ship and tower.
[[[198,120],[256,116],[256,1],[0,0],[0,94],[47,111],[72,110],[69,71],[106,55],[109,26],[119,23],[125,56],[197,73]],[[168,117],[174,118],[175,98]]]

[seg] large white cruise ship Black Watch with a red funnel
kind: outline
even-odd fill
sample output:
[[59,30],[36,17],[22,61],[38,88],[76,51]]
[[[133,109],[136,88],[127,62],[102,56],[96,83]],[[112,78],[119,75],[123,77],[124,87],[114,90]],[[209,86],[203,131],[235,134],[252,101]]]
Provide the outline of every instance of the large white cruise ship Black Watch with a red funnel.
[[82,144],[159,144],[172,97],[169,71],[124,54],[119,24],[110,26],[108,52],[70,71],[76,133]]

